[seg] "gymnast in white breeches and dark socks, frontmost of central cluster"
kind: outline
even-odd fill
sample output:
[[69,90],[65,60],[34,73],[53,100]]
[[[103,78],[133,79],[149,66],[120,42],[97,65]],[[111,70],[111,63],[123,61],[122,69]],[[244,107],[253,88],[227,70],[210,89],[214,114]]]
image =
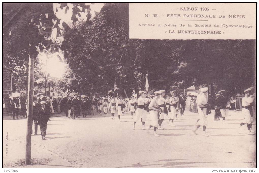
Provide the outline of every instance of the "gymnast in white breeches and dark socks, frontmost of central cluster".
[[155,97],[150,101],[148,105],[148,109],[150,110],[150,119],[151,119],[151,125],[147,127],[147,133],[151,127],[154,127],[154,136],[159,136],[159,134],[156,133],[156,128],[158,126],[158,114],[163,112],[162,109],[159,107],[159,98],[161,97],[162,92],[155,91]]

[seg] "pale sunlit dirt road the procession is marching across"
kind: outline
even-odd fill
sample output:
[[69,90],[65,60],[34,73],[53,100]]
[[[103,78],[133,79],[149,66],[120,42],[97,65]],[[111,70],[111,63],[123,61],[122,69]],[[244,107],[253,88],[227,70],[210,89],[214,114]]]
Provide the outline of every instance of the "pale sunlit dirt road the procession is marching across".
[[[200,135],[202,129],[199,135],[191,133],[198,116],[188,111],[178,116],[176,127],[164,120],[159,137],[153,130],[142,130],[140,121],[133,130],[130,114],[121,117],[122,122],[116,116],[112,120],[110,113],[77,120],[54,117],[48,122],[46,141],[32,136],[29,166],[24,165],[26,120],[3,120],[3,167],[255,167],[255,135],[236,130],[242,116],[235,113],[222,124],[213,121],[213,115],[208,118],[209,137]],[[245,131],[246,125],[242,127]]]

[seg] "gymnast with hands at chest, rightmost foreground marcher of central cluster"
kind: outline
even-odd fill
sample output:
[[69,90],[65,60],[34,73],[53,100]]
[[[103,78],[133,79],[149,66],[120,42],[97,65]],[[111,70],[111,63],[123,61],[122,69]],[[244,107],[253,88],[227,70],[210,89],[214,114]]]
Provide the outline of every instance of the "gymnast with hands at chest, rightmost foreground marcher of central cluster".
[[179,98],[178,97],[176,97],[175,96],[175,94],[176,94],[176,91],[174,90],[174,91],[171,91],[170,92],[170,94],[171,94],[171,98],[169,99],[169,109],[168,109],[168,111],[169,111],[169,122],[168,123],[170,123],[170,121],[171,121],[171,126],[175,126],[174,125],[174,120],[176,119],[176,110],[178,110],[178,104],[179,104]]

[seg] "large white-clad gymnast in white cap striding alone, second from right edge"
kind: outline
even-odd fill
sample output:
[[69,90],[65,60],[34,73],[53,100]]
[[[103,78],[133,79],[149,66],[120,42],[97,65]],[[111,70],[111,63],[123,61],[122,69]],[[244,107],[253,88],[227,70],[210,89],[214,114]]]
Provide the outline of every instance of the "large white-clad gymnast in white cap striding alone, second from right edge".
[[197,103],[197,109],[199,114],[199,119],[197,120],[197,123],[195,127],[192,129],[193,134],[197,135],[195,132],[200,127],[203,126],[203,136],[209,136],[206,134],[206,126],[208,125],[207,120],[207,108],[204,107],[204,104],[207,104],[207,98],[205,93],[208,91],[208,88],[200,88],[199,89],[200,94],[197,96],[196,103]]

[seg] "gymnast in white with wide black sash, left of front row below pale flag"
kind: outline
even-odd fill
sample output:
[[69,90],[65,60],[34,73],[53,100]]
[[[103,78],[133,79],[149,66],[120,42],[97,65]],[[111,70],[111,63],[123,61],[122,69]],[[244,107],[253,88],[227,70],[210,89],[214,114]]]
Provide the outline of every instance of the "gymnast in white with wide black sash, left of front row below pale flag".
[[133,123],[133,129],[135,129],[135,124],[139,120],[139,118],[142,118],[142,129],[145,128],[145,122],[146,122],[146,116],[147,112],[145,111],[144,105],[148,103],[148,99],[146,99],[146,91],[139,91],[140,97],[138,98],[138,108],[136,110],[136,118]]

